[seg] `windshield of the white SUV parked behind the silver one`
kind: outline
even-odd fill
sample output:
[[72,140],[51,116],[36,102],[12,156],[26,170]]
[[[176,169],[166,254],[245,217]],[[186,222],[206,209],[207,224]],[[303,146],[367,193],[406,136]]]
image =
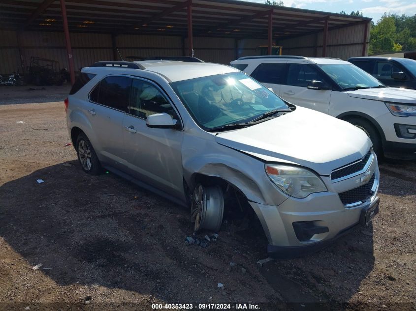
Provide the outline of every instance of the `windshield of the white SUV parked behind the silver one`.
[[319,66],[344,90],[385,87],[379,80],[352,64],[320,64]]

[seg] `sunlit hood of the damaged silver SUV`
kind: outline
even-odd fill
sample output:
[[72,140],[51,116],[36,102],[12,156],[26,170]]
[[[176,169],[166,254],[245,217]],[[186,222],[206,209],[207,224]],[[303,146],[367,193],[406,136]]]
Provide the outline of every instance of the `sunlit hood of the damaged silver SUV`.
[[215,139],[266,162],[298,164],[320,175],[362,158],[371,145],[352,124],[302,107],[244,129],[220,132]]

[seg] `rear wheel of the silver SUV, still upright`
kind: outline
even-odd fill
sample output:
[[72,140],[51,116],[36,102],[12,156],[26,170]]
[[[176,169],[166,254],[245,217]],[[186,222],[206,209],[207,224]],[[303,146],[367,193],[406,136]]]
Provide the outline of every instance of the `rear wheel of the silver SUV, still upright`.
[[101,173],[101,164],[99,163],[96,151],[84,133],[78,135],[76,151],[83,171],[91,175],[99,175]]

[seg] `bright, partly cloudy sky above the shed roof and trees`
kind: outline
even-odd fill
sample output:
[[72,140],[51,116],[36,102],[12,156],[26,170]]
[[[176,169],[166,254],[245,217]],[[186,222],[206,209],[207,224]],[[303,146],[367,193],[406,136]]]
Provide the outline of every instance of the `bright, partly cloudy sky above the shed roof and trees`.
[[[264,0],[244,0],[264,3]],[[279,0],[278,0],[279,2]],[[377,23],[384,12],[390,14],[416,14],[415,0],[283,0],[284,6],[297,7],[308,10],[339,13],[345,11],[360,11],[365,17],[371,17]]]

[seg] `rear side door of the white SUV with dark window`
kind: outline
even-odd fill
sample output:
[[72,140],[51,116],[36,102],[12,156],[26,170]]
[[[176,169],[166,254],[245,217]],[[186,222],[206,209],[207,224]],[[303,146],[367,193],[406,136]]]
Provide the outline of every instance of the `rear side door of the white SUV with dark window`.
[[261,63],[250,76],[279,95],[280,86],[286,80],[286,62],[287,60],[276,60]]

